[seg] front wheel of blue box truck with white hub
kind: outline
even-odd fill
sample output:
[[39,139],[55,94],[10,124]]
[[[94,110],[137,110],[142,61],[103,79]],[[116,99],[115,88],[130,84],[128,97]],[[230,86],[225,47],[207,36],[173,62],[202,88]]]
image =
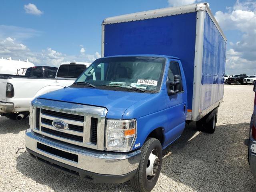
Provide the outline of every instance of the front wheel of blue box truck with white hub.
[[151,191],[159,178],[162,166],[162,146],[156,138],[150,138],[142,146],[138,170],[130,180],[131,185],[138,191]]

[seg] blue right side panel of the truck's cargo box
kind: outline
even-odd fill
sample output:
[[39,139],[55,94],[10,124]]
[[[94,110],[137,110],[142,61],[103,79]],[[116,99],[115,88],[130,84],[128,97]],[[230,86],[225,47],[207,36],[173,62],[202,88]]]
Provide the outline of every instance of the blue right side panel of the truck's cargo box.
[[[200,112],[222,102],[226,62],[226,41],[206,12],[202,58]],[[207,114],[207,113],[206,113]],[[203,115],[200,115],[202,118]]]

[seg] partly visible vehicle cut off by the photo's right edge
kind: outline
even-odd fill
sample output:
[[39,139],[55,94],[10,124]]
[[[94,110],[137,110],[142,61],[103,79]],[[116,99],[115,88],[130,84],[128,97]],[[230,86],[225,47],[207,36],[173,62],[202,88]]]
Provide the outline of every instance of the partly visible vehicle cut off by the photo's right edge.
[[250,123],[249,139],[246,139],[244,143],[248,145],[248,162],[252,174],[256,178],[256,84],[254,84],[253,91],[255,92],[254,110]]

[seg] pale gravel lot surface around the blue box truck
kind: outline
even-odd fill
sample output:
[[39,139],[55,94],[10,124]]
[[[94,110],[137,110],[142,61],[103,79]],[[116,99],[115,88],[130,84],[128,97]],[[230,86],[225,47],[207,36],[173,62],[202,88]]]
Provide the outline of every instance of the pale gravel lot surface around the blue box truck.
[[[153,191],[256,191],[247,162],[252,86],[225,85],[214,134],[190,124],[182,137],[164,150],[162,172]],[[32,159],[25,147],[28,118],[0,117],[0,191],[133,191],[124,184],[93,184],[48,168]]]

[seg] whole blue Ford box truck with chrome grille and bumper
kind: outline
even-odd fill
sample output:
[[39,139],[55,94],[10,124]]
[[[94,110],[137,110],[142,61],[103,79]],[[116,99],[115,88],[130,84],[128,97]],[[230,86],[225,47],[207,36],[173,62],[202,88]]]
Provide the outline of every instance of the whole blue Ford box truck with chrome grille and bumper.
[[30,106],[32,157],[91,182],[154,188],[186,122],[213,133],[226,38],[206,3],[106,18],[102,58]]

